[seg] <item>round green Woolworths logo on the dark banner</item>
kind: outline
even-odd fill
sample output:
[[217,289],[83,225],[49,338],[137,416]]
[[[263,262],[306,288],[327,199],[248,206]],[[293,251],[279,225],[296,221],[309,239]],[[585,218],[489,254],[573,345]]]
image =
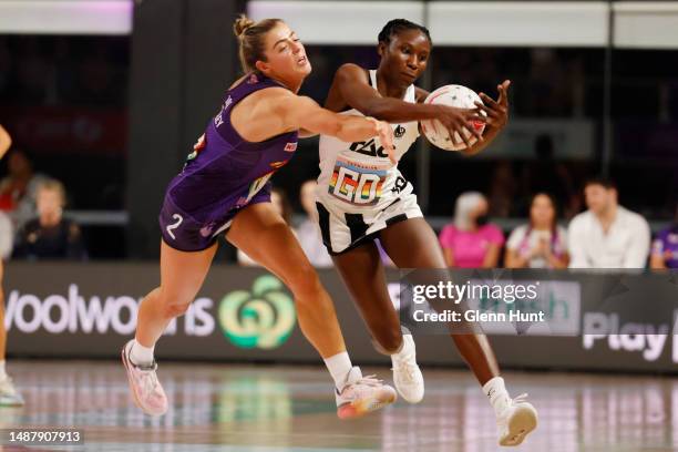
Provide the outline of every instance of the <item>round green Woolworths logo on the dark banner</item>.
[[282,282],[258,277],[251,291],[236,290],[219,304],[224,336],[243,348],[273,349],[281,346],[295,328],[295,305]]

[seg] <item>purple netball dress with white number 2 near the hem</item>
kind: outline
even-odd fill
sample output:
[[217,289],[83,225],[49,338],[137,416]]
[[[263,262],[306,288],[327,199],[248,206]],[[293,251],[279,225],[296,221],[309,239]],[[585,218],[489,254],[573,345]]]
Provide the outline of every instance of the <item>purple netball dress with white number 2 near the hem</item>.
[[226,93],[222,111],[205,131],[205,144],[170,183],[160,215],[163,239],[182,251],[212,246],[245,206],[270,202],[270,176],[297,150],[298,133],[265,142],[245,141],[230,123],[233,107],[249,94],[279,83],[258,73]]

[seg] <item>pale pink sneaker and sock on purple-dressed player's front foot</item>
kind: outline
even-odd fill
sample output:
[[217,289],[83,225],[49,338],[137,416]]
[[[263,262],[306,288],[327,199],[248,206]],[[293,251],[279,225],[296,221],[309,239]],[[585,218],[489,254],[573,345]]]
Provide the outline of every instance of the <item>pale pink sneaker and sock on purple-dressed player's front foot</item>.
[[383,384],[374,376],[362,377],[358,367],[350,370],[341,392],[335,392],[337,415],[340,419],[360,418],[393,403],[398,398],[393,388]]

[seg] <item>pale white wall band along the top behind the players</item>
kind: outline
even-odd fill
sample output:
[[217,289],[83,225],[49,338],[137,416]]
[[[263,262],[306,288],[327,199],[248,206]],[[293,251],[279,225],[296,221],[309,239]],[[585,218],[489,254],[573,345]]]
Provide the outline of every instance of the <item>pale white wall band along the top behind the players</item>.
[[[0,33],[129,34],[133,8],[133,0],[0,0]],[[607,44],[608,8],[606,1],[251,0],[248,13],[282,18],[312,44],[371,45],[389,19],[405,18],[427,24],[436,44],[585,48]],[[678,1],[620,1],[613,12],[615,47],[678,49]]]

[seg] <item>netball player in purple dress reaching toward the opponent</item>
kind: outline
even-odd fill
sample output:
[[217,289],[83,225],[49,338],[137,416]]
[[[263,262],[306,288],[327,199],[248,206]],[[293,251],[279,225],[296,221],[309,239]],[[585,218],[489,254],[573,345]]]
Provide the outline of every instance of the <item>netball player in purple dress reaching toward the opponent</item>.
[[270,176],[297,148],[299,135],[346,141],[379,136],[392,151],[387,123],[342,116],[297,95],[311,66],[295,32],[279,19],[236,20],[245,76],[227,91],[161,212],[161,285],[142,301],[136,336],[122,351],[136,404],[167,410],[153,349],[172,319],[199,290],[220,233],[277,275],[296,300],[299,326],[335,380],[338,414],[353,418],[396,400],[396,391],[351,366],[332,300],[296,237],[270,204]]

